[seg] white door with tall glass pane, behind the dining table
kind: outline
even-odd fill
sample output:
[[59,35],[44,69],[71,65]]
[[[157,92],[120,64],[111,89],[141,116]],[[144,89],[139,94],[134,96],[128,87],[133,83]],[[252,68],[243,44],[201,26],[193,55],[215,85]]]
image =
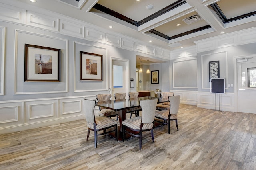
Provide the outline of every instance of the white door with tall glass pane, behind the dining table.
[[128,94],[127,61],[112,60],[112,100],[115,93]]

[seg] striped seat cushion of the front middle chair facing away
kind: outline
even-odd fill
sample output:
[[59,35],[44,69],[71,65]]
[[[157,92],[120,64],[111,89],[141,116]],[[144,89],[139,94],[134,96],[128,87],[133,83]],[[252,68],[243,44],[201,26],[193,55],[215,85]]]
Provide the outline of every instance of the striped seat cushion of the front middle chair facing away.
[[[126,119],[122,122],[123,125],[130,127],[132,129],[140,129],[141,116],[133,117],[131,119]],[[142,130],[153,128],[153,123],[145,123],[143,124]]]

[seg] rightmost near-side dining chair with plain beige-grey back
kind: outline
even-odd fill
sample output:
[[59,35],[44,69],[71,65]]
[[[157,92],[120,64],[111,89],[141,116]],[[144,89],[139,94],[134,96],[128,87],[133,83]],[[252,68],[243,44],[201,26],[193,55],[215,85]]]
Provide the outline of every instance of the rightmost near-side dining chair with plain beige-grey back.
[[[157,119],[164,120],[164,124],[168,124],[168,133],[170,134],[170,121],[174,121],[176,123],[177,131],[178,128],[178,111],[180,107],[180,96],[169,96],[168,100],[170,102],[169,110],[160,110],[156,111],[155,117]],[[155,119],[155,121],[158,121]]]

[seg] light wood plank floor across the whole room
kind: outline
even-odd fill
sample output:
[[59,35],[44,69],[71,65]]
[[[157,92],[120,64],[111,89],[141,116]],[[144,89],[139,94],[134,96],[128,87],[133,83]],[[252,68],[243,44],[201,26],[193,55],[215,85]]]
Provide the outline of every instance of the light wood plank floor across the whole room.
[[256,114],[180,105],[175,122],[116,142],[94,134],[86,121],[0,135],[0,170],[256,170]]

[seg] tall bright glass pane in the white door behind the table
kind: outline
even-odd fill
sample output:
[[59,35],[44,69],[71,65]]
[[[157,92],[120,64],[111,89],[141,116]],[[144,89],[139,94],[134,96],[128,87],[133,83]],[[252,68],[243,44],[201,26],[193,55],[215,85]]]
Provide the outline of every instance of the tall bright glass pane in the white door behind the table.
[[113,87],[123,88],[123,66],[113,65]]

